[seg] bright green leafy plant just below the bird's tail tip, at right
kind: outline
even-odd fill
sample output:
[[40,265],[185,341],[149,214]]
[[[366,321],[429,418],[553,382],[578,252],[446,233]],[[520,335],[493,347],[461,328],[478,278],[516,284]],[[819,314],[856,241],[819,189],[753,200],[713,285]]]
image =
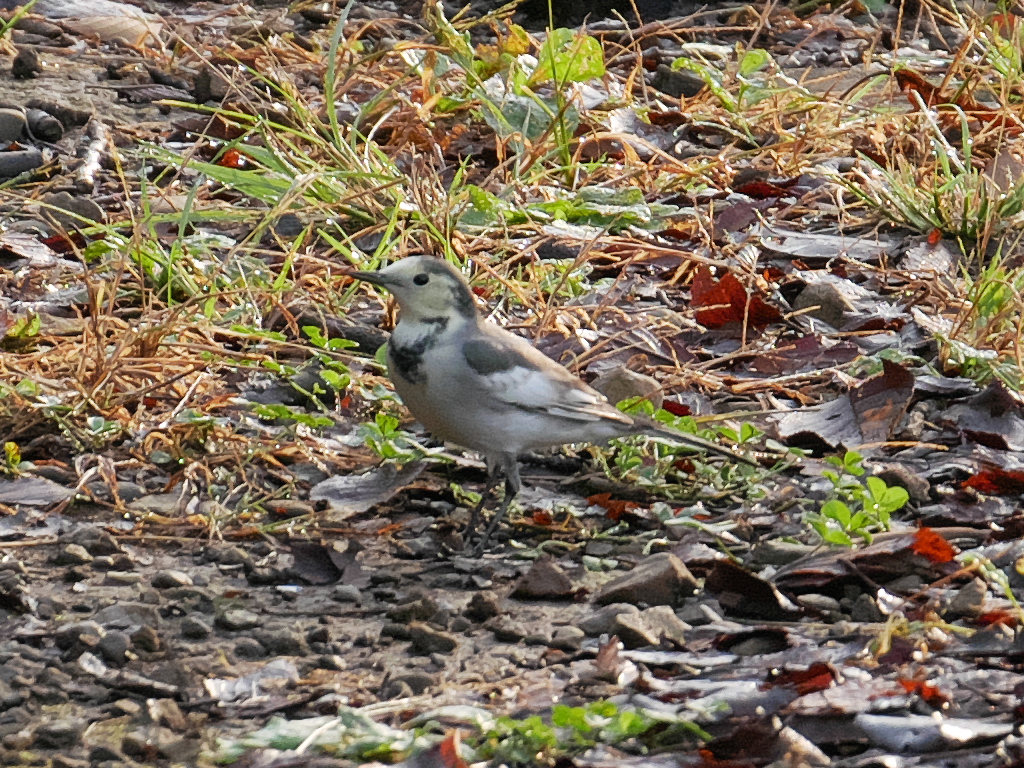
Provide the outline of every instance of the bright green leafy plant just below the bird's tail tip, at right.
[[836,469],[821,473],[833,484],[835,498],[808,515],[807,522],[827,544],[852,547],[854,537],[870,544],[876,532],[889,529],[892,513],[910,499],[905,489],[889,486],[881,477],[861,482],[862,460],[860,454],[848,451],[842,458],[829,457]]

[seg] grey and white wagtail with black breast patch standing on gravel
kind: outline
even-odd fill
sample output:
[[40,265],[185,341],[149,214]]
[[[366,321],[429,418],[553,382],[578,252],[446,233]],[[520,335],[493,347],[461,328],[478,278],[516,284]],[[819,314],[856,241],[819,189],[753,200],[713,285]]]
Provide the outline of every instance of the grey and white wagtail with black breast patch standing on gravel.
[[380,271],[348,274],[386,289],[398,301],[398,324],[387,344],[388,375],[413,416],[435,437],[486,460],[490,480],[467,537],[498,470],[505,475],[505,499],[477,554],[519,493],[518,460],[526,451],[646,433],[757,465],[710,440],[613,408],[525,339],[480,317],[469,286],[446,261],[411,256]]

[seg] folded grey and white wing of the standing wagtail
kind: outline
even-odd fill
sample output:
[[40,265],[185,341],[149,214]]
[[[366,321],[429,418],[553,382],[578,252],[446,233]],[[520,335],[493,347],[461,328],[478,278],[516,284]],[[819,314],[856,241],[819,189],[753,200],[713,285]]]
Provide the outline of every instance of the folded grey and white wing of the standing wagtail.
[[484,396],[513,408],[573,421],[633,424],[629,416],[609,406],[599,392],[526,341],[505,331],[500,335],[474,336],[466,340],[462,352],[477,375]]

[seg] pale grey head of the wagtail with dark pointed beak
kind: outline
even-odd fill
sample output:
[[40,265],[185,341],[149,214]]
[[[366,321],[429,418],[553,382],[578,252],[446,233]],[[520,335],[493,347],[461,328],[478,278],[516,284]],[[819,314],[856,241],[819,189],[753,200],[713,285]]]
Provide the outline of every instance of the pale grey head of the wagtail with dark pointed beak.
[[476,304],[469,286],[443,259],[409,256],[376,272],[349,274],[394,294],[401,319],[415,323],[444,317],[467,323],[476,318]]

